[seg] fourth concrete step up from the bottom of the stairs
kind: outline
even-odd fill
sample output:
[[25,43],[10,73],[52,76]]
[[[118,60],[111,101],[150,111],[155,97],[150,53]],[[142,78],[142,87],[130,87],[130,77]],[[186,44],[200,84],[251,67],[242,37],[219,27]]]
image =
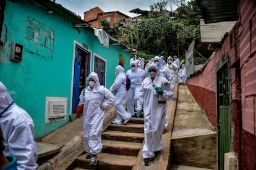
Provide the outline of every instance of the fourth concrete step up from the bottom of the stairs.
[[122,131],[144,133],[144,124],[126,123],[126,124],[109,124],[109,131]]

